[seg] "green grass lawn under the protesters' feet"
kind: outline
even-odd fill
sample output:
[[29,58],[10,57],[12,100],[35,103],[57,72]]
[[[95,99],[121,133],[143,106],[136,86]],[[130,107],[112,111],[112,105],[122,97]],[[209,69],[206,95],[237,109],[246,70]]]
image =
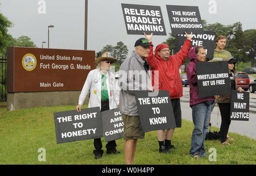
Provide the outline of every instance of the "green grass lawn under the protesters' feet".
[[[82,108],[85,108],[83,106]],[[123,146],[125,140],[117,140],[118,155],[106,154],[105,141],[102,138],[104,155],[95,160],[93,140],[56,144],[53,112],[75,110],[75,106],[39,107],[15,111],[0,108],[0,164],[125,164]],[[218,131],[218,128],[212,127]],[[172,144],[177,148],[169,154],[160,154],[156,131],[147,132],[143,140],[138,140],[134,164],[176,165],[176,164],[256,164],[256,141],[237,133],[229,133],[234,138],[230,146],[221,146],[220,141],[205,141],[205,148],[215,148],[217,161],[208,157],[196,160],[189,156],[193,123],[182,121],[182,128],[176,128]],[[39,148],[46,149],[46,161],[38,161]],[[210,154],[210,152],[208,152]]]

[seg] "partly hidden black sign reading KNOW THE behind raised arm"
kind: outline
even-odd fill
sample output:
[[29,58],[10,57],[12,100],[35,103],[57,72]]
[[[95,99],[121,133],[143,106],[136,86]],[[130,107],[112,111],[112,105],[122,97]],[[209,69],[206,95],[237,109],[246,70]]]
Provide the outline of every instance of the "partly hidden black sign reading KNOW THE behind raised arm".
[[[200,34],[193,34],[191,40],[191,47],[204,46],[207,58],[213,59],[213,53],[215,48],[216,32],[205,31]],[[187,36],[184,34],[176,36],[175,53],[179,52]]]

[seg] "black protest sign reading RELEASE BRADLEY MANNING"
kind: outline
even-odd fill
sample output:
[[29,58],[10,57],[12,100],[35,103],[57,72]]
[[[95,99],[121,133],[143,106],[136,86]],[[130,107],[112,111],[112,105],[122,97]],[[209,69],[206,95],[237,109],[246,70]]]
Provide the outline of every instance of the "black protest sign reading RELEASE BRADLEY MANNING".
[[145,6],[121,3],[127,34],[166,35],[160,6]]

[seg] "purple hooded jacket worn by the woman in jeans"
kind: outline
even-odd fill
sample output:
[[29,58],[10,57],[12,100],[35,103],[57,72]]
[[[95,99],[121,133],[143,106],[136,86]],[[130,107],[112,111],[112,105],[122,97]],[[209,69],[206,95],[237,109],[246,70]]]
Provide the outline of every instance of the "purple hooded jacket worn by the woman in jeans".
[[207,100],[214,100],[213,97],[204,97],[199,98],[198,94],[198,88],[197,88],[197,75],[196,75],[196,62],[199,62],[197,60],[196,56],[196,47],[192,48],[188,52],[188,58],[190,60],[188,66],[187,66],[187,78],[189,83],[189,106],[191,107],[194,104],[206,102]]

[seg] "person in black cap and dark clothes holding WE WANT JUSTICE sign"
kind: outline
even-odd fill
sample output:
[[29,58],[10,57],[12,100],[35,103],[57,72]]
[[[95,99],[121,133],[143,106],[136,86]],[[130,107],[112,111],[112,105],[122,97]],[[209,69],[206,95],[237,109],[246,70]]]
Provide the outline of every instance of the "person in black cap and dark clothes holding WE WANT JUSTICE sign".
[[[229,64],[229,78],[230,78],[230,89],[231,90],[239,90],[240,92],[243,91],[241,87],[237,87],[236,81],[236,60],[233,58],[224,58],[222,61],[228,61]],[[229,125],[231,123],[230,120],[230,100],[231,95],[222,95],[219,96],[217,99],[218,106],[220,107],[221,112],[221,127],[220,127],[220,140],[221,145],[230,145],[227,139],[233,140],[233,138],[227,136],[229,131]]]

